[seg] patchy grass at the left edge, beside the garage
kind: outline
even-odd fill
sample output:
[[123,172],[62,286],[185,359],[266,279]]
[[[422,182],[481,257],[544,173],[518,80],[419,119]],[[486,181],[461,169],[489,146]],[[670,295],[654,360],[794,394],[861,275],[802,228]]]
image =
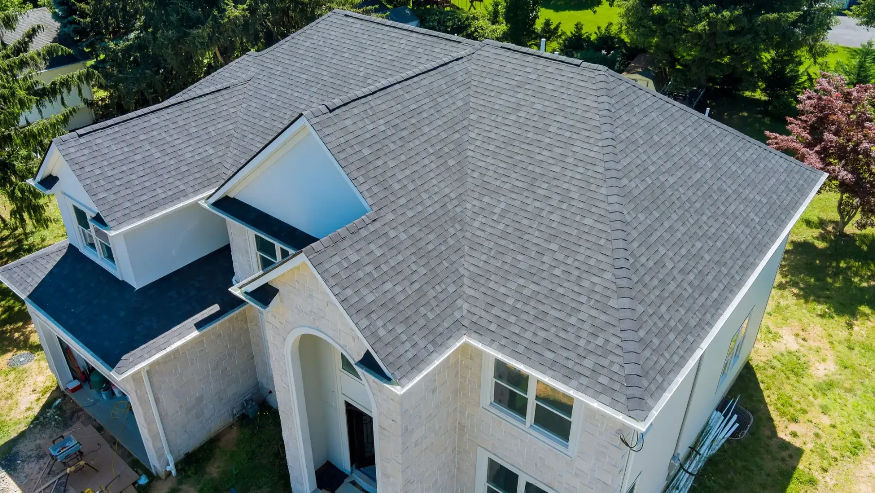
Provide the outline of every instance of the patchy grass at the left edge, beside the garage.
[[[0,202],[0,210],[5,204]],[[0,229],[0,264],[24,257],[66,235],[54,201],[49,206],[52,224],[47,229],[11,232]],[[33,363],[11,368],[7,360],[22,351],[36,355]],[[56,387],[33,329],[25,304],[5,285],[0,285],[0,449],[24,430]]]

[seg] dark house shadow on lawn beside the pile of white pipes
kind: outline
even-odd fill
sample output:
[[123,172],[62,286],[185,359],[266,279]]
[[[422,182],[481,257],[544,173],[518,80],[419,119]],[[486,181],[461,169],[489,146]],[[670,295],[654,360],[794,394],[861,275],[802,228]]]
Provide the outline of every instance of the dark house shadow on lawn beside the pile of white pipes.
[[760,388],[756,370],[746,363],[728,395],[753,413],[753,426],[741,440],[727,440],[700,471],[694,491],[700,493],[784,493],[804,491],[814,475],[797,469],[802,448],[778,435]]

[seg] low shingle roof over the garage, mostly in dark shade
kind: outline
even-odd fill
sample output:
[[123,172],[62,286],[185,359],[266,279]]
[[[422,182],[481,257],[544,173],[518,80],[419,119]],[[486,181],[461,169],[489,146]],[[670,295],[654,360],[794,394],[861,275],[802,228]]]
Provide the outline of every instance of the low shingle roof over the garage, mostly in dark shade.
[[245,305],[228,291],[228,246],[140,289],[64,240],[0,267],[0,278],[117,373]]

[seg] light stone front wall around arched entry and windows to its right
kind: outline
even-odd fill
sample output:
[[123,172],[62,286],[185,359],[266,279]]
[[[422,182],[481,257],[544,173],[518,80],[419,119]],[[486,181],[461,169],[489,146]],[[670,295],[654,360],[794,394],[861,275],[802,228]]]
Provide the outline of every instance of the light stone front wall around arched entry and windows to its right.
[[[366,347],[308,265],[291,269],[271,284],[279,289],[280,300],[264,315],[270,361],[292,489],[303,491],[298,418],[286,367],[287,338],[297,327],[311,327],[355,359]],[[472,493],[478,446],[559,493],[620,490],[627,448],[616,433],[621,429],[619,421],[587,406],[581,445],[577,457],[570,457],[480,407],[481,362],[479,349],[462,344],[402,394],[365,377],[378,413],[382,492]]]

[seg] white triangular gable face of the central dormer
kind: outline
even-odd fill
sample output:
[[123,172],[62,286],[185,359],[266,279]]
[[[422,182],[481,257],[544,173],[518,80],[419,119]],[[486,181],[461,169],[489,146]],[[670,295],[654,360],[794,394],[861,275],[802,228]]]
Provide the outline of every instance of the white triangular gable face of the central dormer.
[[360,195],[309,130],[292,137],[231,196],[316,236],[327,236],[367,213]]

